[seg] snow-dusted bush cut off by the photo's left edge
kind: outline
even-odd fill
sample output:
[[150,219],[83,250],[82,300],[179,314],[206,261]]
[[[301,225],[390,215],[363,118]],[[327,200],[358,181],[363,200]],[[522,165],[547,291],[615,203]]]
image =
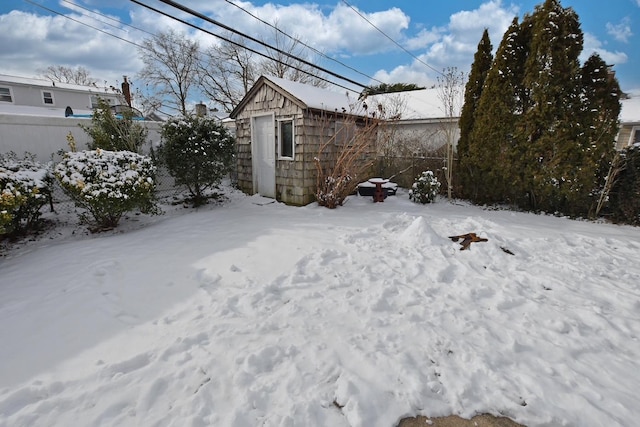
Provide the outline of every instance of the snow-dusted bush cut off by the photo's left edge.
[[0,235],[34,228],[40,209],[50,200],[53,178],[47,165],[26,154],[0,155]]

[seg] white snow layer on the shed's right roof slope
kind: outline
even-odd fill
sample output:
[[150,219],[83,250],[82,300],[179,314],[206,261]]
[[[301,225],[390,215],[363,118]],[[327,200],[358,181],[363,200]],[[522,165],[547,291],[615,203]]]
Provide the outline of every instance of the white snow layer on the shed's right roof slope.
[[337,92],[300,82],[293,82],[273,76],[263,76],[275,85],[284,89],[294,98],[297,98],[307,108],[324,111],[357,111],[358,93],[347,91]]

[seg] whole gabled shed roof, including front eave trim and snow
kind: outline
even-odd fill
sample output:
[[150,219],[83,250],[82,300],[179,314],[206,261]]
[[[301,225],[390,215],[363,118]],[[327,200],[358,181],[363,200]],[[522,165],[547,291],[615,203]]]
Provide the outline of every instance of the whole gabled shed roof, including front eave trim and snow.
[[274,90],[282,93],[304,109],[350,112],[354,114],[357,114],[356,112],[360,110],[356,92],[349,93],[346,90],[337,92],[279,77],[261,76],[242,101],[229,114],[229,117],[235,118],[264,84],[271,86]]

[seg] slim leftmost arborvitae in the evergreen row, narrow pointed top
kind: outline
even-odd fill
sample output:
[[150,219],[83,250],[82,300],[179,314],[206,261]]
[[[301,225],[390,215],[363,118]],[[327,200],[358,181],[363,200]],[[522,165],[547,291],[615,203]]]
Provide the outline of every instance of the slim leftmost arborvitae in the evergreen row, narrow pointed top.
[[473,169],[472,164],[469,162],[469,139],[475,122],[482,88],[493,61],[492,50],[493,46],[489,39],[489,31],[485,29],[480,43],[478,43],[478,50],[473,57],[473,64],[471,64],[471,72],[464,91],[464,105],[462,106],[459,121],[460,139],[458,140],[457,152],[460,166],[458,168],[458,179],[464,197],[472,195],[466,191],[472,188],[473,183]]

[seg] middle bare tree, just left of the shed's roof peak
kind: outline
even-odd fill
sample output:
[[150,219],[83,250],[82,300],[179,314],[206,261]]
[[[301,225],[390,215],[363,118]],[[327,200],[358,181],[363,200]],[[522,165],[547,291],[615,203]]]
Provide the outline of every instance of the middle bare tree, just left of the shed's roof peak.
[[239,38],[210,46],[198,67],[198,82],[205,95],[231,112],[259,77],[251,52]]

